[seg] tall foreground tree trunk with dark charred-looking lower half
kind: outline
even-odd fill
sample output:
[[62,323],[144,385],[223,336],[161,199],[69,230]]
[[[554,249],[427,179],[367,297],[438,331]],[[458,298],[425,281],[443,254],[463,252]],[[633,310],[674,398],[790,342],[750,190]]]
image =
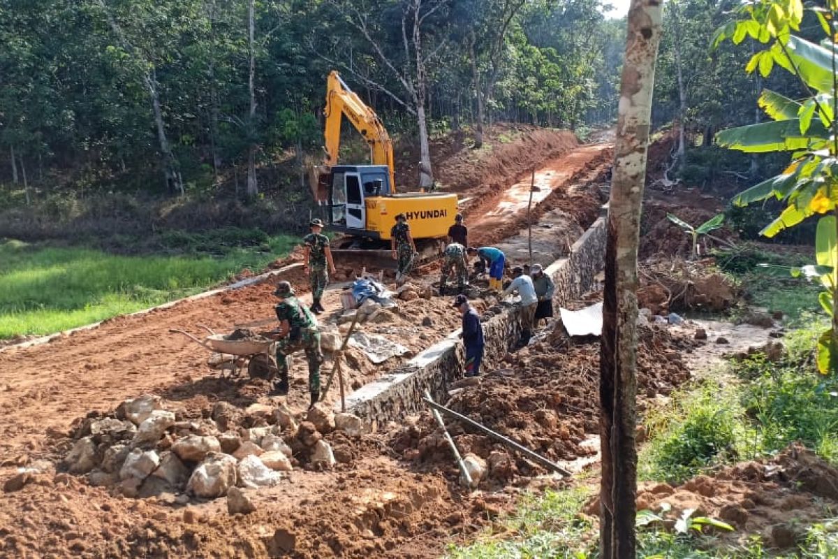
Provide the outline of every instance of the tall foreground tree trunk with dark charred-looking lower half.
[[600,355],[600,557],[636,556],[637,249],[661,30],[658,0],[632,0],[618,108]]

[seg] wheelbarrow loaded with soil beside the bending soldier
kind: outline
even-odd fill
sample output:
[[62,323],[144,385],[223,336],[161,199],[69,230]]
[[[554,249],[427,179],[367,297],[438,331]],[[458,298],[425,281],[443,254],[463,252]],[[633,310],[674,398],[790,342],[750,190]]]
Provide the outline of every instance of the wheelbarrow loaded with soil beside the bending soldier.
[[224,334],[215,334],[202,324],[199,326],[209,332],[209,336],[199,339],[184,330],[169,329],[169,332],[184,334],[201,347],[218,354],[218,359],[209,360],[209,366],[221,370],[221,378],[224,378],[224,370],[230,370],[230,376],[237,377],[245,367],[251,379],[272,380],[279,372],[274,358],[277,353],[276,342],[273,340],[226,339]]

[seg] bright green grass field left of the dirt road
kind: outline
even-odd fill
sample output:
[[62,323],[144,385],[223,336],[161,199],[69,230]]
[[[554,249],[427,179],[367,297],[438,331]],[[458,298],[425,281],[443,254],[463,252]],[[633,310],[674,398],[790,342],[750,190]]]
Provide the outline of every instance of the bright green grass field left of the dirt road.
[[116,256],[0,241],[0,339],[52,334],[202,292],[286,256],[297,237],[226,246],[213,256]]

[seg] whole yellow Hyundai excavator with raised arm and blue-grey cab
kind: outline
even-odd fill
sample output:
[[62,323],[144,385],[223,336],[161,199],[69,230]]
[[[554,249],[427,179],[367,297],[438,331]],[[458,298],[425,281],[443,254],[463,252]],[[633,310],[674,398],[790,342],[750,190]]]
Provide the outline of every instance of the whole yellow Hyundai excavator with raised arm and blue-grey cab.
[[[311,175],[314,199],[321,204],[328,226],[344,233],[336,240],[335,256],[370,254],[389,256],[385,247],[397,214],[411,225],[416,249],[423,255],[442,249],[442,240],[457,214],[456,194],[396,193],[393,144],[379,117],[341,80],[337,71],[328,75],[326,91],[323,166]],[[370,165],[339,165],[340,124],[343,116],[370,145]],[[376,251],[379,249],[379,251]]]

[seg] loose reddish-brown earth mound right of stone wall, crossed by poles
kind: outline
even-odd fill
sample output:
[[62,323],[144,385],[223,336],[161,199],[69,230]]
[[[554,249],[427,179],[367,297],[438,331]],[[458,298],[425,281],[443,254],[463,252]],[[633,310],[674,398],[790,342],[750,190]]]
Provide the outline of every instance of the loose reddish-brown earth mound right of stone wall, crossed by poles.
[[[484,375],[474,386],[455,389],[447,406],[553,461],[596,453],[595,446],[583,442],[599,432],[599,344],[571,344],[558,329],[547,339],[507,355],[504,369]],[[690,349],[690,341],[674,338],[665,329],[641,329],[639,397],[669,394],[685,382],[690,373],[680,353]],[[430,413],[412,417],[409,423],[391,439],[397,453],[431,466],[452,463],[451,450]],[[461,453],[488,462],[489,484],[525,484],[526,479],[545,473],[458,422],[448,422],[448,429]]]

